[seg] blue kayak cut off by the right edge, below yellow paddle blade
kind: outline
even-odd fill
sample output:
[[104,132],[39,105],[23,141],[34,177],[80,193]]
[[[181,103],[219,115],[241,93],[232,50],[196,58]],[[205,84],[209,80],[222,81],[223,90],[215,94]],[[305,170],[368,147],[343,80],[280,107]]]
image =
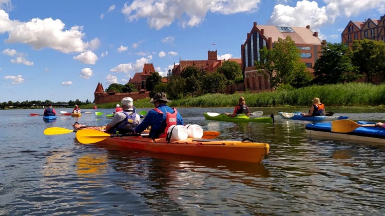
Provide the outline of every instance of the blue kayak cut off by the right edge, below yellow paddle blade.
[[[365,125],[365,124],[375,124],[375,123],[358,122],[358,124]],[[324,123],[307,124],[305,126],[305,130],[306,130],[306,133],[310,135],[328,136],[331,138],[385,144],[385,128],[359,127],[349,133],[336,133],[336,132],[331,132],[330,122],[324,122]]]

